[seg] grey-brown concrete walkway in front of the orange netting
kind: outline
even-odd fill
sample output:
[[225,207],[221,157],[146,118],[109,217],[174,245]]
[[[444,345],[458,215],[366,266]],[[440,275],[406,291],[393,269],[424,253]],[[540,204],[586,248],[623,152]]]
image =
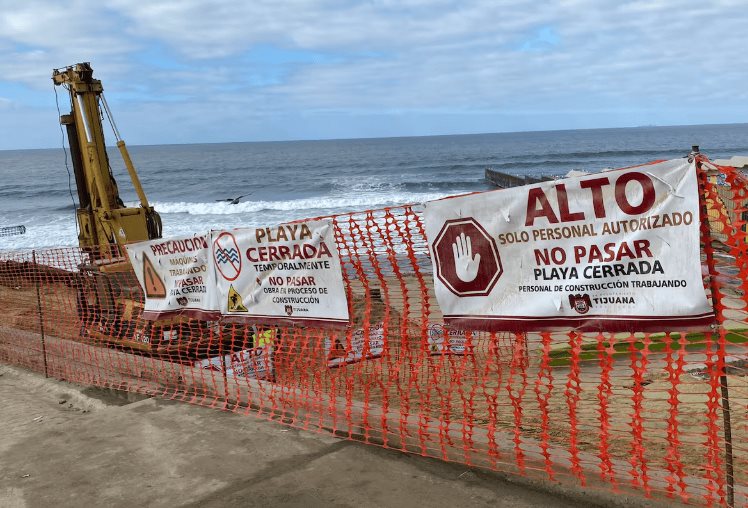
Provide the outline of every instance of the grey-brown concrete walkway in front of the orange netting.
[[0,506],[594,506],[253,416],[135,399],[0,364]]

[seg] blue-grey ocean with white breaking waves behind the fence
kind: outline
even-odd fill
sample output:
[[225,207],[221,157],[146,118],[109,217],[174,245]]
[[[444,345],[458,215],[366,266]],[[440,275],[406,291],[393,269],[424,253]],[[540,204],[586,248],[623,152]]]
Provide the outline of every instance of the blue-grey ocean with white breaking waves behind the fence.
[[[486,167],[556,176],[683,157],[691,145],[711,159],[748,154],[748,124],[129,148],[171,237],[490,190]],[[117,149],[109,154],[122,199],[136,203]],[[0,175],[0,227],[26,226],[0,237],[0,250],[77,245],[69,154],[0,151]]]

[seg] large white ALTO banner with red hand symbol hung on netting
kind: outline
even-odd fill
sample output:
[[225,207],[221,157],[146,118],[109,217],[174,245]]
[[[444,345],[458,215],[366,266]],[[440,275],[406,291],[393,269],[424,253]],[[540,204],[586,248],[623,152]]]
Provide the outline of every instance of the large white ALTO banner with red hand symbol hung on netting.
[[426,205],[446,323],[647,331],[713,321],[686,159]]

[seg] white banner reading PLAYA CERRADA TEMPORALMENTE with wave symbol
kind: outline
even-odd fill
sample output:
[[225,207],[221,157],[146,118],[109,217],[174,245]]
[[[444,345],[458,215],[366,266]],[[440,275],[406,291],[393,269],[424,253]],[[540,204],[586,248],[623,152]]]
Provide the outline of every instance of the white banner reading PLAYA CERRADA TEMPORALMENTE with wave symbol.
[[331,221],[212,231],[211,250],[227,320],[348,323]]

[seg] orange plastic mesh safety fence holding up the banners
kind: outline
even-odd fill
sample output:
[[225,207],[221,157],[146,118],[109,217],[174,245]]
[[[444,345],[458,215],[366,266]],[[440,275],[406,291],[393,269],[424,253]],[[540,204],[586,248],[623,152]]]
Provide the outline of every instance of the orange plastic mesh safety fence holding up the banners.
[[78,248],[0,253],[0,361],[468,465],[745,506],[748,180],[706,160],[700,176],[712,332],[445,327],[421,212],[402,206],[331,218],[342,330],[146,321],[132,271]]

